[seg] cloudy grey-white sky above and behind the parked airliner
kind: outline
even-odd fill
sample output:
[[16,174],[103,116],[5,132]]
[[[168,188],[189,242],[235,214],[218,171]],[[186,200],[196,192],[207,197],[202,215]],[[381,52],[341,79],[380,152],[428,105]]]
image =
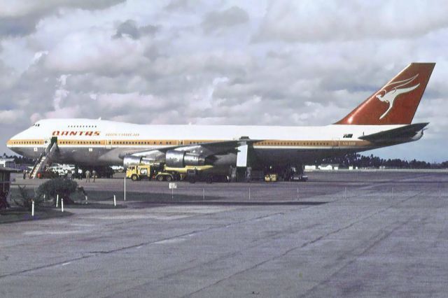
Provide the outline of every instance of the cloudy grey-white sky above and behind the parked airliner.
[[0,153],[45,118],[328,125],[411,62],[436,62],[381,158],[448,160],[446,1],[0,0]]

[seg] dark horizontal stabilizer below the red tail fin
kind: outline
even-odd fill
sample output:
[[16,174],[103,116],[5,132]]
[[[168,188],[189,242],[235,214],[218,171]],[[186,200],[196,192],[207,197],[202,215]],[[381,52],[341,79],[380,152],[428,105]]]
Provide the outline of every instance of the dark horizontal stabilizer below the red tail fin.
[[412,141],[419,132],[422,131],[429,123],[416,123],[412,125],[405,125],[394,129],[377,132],[376,134],[367,134],[367,136],[360,136],[359,139],[370,141],[373,143],[395,142],[409,139]]

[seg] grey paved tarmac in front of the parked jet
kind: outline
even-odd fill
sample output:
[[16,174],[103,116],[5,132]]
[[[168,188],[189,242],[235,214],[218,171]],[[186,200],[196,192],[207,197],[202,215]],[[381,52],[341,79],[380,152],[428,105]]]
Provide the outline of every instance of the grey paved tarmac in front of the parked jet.
[[127,180],[126,201],[123,178],[78,181],[126,208],[1,225],[0,296],[446,297],[448,173],[308,174]]

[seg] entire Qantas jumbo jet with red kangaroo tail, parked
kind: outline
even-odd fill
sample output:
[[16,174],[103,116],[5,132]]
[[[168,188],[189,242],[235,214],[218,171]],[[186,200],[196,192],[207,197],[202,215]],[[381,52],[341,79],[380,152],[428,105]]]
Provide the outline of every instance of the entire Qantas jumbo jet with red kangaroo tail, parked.
[[263,168],[314,163],[416,141],[428,123],[411,124],[434,63],[412,63],[335,124],[322,127],[135,125],[90,119],[40,120],[13,136],[10,150],[51,162],[104,166],[162,163]]

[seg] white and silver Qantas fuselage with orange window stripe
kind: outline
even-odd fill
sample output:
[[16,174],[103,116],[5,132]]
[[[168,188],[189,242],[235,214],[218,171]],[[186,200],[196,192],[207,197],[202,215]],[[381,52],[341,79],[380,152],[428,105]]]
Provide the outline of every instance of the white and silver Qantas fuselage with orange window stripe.
[[[358,137],[397,127],[402,125],[135,125],[106,120],[48,119],[13,136],[7,146],[20,155],[36,158],[56,137],[60,152],[59,160],[54,162],[120,165],[123,155],[144,150],[248,137],[259,140],[253,144],[253,149],[262,163],[296,164],[379,148],[378,144]],[[384,146],[389,145],[393,144]]]

